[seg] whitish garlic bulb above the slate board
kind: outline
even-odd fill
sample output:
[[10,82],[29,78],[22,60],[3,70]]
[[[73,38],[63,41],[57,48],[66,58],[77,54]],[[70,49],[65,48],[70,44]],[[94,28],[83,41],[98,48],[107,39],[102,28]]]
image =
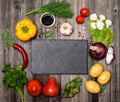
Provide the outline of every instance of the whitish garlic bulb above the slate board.
[[70,35],[73,32],[73,26],[68,22],[62,23],[60,26],[60,33],[62,35]]

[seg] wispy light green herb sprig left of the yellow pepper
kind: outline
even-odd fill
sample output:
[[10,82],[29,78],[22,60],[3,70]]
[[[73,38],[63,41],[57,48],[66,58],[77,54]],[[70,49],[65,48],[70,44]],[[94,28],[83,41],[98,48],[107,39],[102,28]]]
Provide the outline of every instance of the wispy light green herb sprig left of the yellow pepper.
[[6,41],[6,47],[9,49],[15,43],[14,37],[10,34],[10,29],[7,27],[2,33],[2,41]]

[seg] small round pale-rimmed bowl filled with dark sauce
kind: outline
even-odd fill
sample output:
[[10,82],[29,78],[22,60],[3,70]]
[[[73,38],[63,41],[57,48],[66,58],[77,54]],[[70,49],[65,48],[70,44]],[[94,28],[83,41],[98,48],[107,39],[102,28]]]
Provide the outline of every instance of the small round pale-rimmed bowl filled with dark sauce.
[[52,27],[55,24],[55,16],[50,13],[43,13],[40,16],[40,23],[44,27]]

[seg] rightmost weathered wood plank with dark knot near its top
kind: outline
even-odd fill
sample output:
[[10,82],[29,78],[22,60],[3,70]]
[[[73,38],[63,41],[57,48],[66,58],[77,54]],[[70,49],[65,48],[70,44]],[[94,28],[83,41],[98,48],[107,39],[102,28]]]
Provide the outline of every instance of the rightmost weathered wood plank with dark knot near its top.
[[112,19],[113,31],[115,33],[114,47],[115,47],[115,61],[112,64],[112,80],[111,80],[111,102],[120,101],[120,4],[119,0],[113,2],[112,5]]

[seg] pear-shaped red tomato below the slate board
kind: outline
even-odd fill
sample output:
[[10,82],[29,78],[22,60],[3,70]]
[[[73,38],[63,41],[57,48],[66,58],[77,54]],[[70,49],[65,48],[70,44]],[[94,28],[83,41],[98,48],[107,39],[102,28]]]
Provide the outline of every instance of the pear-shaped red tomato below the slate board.
[[46,96],[57,96],[59,94],[59,86],[55,78],[50,78],[43,87],[43,94]]

